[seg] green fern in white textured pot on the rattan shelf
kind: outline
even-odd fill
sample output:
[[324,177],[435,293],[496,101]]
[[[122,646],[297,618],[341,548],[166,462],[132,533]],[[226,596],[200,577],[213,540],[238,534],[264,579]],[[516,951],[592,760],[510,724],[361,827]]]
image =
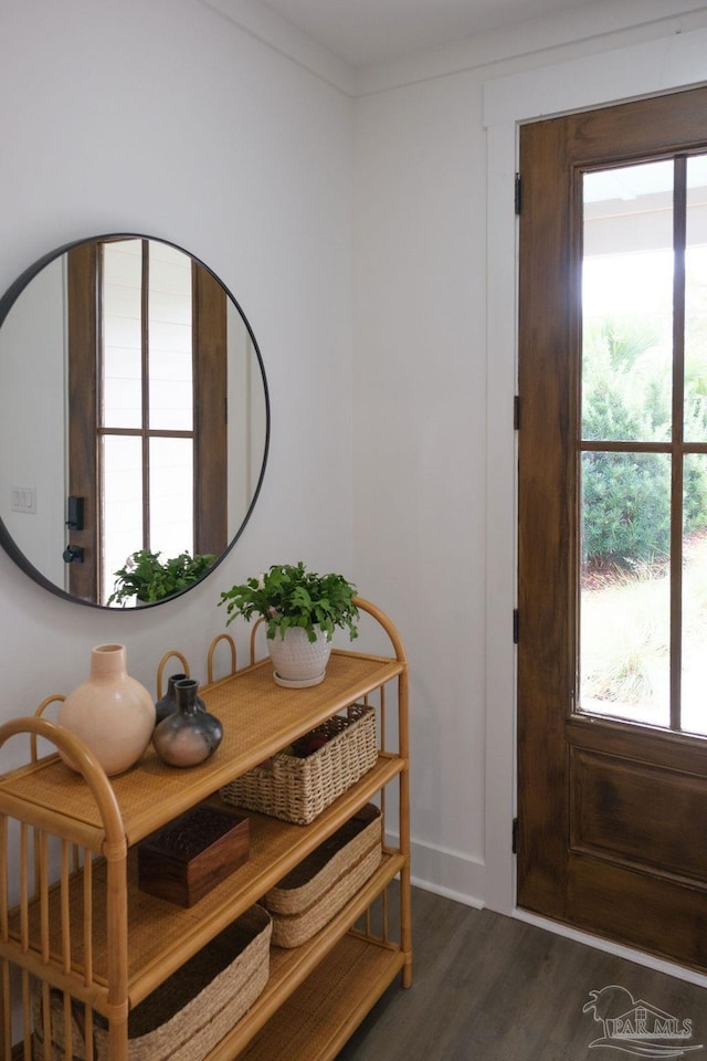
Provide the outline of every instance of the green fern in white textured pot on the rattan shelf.
[[337,627],[358,637],[357,589],[342,575],[317,575],[297,564],[273,564],[221,593],[228,623],[253,616],[266,623],[267,648],[281,685],[316,685],[324,680]]

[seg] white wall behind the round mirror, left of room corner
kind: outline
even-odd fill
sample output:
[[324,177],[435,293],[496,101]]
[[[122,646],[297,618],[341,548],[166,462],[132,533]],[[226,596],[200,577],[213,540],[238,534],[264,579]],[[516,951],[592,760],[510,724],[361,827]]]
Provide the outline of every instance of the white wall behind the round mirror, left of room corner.
[[127,645],[150,689],[170,648],[205,677],[207,647],[224,629],[220,590],[271,563],[352,575],[351,108],[197,0],[3,0],[0,290],[89,234],[186,248],[250,319],[273,430],[249,527],[183,601],[97,611],[53,597],[0,554],[0,719],[67,692],[105,641]]

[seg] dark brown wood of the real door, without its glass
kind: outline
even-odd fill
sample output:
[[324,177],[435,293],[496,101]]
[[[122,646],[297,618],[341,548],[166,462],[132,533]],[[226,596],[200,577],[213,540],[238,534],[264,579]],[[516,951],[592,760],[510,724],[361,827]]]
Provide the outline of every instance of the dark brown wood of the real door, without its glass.
[[[667,838],[671,819],[655,787],[658,771],[684,781],[679,795],[666,784],[672,806],[696,821],[701,808],[707,821],[705,742],[577,716],[572,708],[581,172],[616,165],[619,156],[625,165],[704,149],[706,143],[705,88],[521,130],[518,463],[518,905],[703,970],[707,934],[697,927],[707,913],[707,885],[693,874],[705,871],[707,881],[704,860],[661,868],[652,880],[657,868],[642,864],[636,852],[598,854],[592,823],[602,827],[599,845],[609,843],[606,822],[624,815],[631,799],[645,798],[648,836]],[[556,180],[548,180],[548,169],[559,175]],[[602,773],[610,760],[622,771],[618,790]],[[620,810],[616,801],[623,801]],[[627,892],[640,905],[637,928],[626,925]]]

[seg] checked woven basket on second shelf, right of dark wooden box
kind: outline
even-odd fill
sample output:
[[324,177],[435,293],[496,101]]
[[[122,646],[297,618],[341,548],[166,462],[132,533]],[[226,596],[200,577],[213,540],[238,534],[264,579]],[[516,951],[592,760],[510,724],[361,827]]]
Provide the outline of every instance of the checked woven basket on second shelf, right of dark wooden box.
[[278,752],[272,765],[256,766],[222,788],[221,798],[271,818],[309,824],[378,758],[372,707],[355,704],[313,733],[324,733],[327,743],[304,758]]

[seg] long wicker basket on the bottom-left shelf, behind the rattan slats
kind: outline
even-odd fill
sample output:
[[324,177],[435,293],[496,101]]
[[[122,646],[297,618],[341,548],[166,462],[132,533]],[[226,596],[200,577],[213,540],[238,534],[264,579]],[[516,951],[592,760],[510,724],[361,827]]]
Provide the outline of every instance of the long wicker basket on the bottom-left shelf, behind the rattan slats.
[[[128,1061],[202,1061],[261,995],[270,975],[272,921],[252,906],[130,1011]],[[51,1061],[64,1061],[64,1007],[50,994]],[[33,1058],[44,1061],[42,989],[33,990]],[[84,1007],[72,1005],[74,1061],[85,1061]],[[107,1061],[105,1018],[94,1012],[94,1058]]]

